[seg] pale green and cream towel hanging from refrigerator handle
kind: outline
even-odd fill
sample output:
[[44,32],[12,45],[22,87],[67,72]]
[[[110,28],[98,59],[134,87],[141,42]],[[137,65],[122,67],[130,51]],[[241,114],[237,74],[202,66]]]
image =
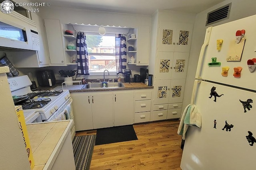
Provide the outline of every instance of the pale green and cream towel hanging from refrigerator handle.
[[201,114],[198,112],[196,105],[186,106],[182,118],[180,120],[180,125],[178,127],[178,134],[182,135],[182,139],[185,140],[186,132],[189,126],[196,126],[201,128],[202,120]]

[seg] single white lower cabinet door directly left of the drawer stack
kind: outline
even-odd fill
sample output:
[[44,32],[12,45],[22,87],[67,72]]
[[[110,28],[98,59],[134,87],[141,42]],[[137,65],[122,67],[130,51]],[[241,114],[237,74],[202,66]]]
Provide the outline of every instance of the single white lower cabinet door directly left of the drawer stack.
[[133,92],[115,92],[114,97],[114,126],[133,124]]

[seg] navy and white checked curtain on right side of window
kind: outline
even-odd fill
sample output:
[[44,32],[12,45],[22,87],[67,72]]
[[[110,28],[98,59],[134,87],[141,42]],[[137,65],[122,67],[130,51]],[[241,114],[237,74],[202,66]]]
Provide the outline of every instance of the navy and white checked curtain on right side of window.
[[124,74],[126,58],[126,37],[122,34],[116,34],[116,74]]

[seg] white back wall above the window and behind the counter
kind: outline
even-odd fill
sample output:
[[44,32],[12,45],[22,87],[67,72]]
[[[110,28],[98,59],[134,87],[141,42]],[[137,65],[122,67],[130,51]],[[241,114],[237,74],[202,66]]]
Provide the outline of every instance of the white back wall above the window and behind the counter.
[[[138,28],[139,26],[151,25],[151,16],[141,16],[132,14],[117,14],[117,13],[107,13],[107,12],[96,12],[88,10],[76,10],[76,9],[60,9],[60,8],[42,8],[38,13],[43,19],[58,19],[61,23],[84,23],[91,25],[110,25],[110,26],[126,26]],[[140,74],[141,66],[127,65],[128,69],[132,70],[132,74]],[[58,76],[58,70],[69,69],[60,68],[58,66],[51,66],[46,68],[38,68],[35,70],[42,69],[52,69],[56,75],[56,79],[63,79]],[[31,69],[28,68],[18,68],[21,74],[26,74],[26,72]],[[32,69],[34,70],[34,69]],[[74,69],[76,70],[76,68]],[[86,78],[96,79],[103,78],[100,76],[87,76]],[[111,76],[111,78],[117,78],[116,75]]]

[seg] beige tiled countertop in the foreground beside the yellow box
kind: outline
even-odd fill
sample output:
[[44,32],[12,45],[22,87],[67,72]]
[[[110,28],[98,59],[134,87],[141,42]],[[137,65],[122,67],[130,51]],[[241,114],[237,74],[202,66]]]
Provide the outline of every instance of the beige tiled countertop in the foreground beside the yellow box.
[[51,169],[70,132],[72,121],[51,121],[26,125],[35,162],[33,170]]

